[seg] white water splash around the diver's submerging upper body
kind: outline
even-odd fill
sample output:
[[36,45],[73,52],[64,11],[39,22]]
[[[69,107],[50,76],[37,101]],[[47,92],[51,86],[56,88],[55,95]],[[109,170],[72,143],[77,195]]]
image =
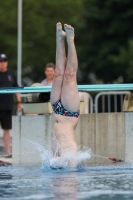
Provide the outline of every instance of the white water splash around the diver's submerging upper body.
[[[69,168],[69,162],[75,162],[77,165],[81,165],[82,161],[91,158],[91,149],[86,147],[79,147],[78,151],[72,148],[60,149],[56,142],[55,153],[53,154],[52,149],[44,147],[35,141],[30,141],[30,143],[36,146],[38,152],[40,152],[40,157],[42,160],[42,168],[50,167],[53,169],[59,168]],[[60,156],[58,156],[60,155]]]

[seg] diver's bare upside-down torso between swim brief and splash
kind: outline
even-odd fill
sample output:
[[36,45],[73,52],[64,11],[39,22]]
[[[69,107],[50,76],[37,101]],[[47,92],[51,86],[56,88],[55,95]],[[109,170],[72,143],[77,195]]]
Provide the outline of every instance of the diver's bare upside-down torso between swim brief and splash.
[[52,137],[56,138],[61,149],[77,150],[75,129],[78,118],[57,115],[54,113]]

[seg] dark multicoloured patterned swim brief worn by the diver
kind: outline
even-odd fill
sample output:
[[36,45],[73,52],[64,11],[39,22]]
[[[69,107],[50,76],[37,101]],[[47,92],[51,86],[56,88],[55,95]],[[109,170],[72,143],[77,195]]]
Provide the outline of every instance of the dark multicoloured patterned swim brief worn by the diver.
[[61,103],[61,100],[58,100],[57,102],[55,102],[52,105],[52,108],[53,108],[53,111],[54,111],[55,114],[68,116],[68,117],[77,117],[78,118],[79,113],[80,113],[80,111],[78,111],[78,112],[70,112],[70,111],[66,110],[63,107],[63,105]]

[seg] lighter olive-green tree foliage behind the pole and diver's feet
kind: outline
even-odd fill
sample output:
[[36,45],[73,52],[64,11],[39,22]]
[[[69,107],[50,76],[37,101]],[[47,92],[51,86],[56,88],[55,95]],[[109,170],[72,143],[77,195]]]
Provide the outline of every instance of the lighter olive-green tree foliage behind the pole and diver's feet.
[[[17,66],[17,0],[1,1],[0,52],[9,57],[9,67]],[[55,24],[60,21],[78,28],[81,0],[23,0],[23,76],[43,78],[47,62],[55,62]]]

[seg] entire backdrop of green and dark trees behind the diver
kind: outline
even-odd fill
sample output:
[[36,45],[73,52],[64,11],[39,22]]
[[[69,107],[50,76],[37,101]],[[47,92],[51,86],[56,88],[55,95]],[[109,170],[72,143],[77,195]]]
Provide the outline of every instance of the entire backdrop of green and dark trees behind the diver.
[[[17,69],[18,0],[1,1],[0,53]],[[133,81],[133,1],[23,0],[23,78],[43,79],[47,62],[55,61],[55,24],[75,27],[80,83],[91,79]]]

